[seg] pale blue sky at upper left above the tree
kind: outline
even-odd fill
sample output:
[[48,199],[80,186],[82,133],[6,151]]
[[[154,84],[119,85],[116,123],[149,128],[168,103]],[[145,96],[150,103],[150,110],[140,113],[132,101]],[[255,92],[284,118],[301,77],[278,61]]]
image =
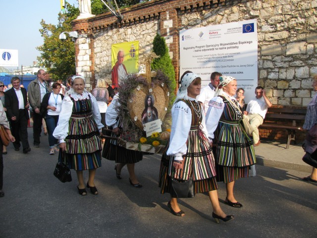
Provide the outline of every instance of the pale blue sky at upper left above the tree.
[[[66,1],[78,7],[77,0]],[[57,24],[60,0],[0,0],[0,9],[0,49],[18,50],[19,68],[32,65],[43,44],[40,22]]]

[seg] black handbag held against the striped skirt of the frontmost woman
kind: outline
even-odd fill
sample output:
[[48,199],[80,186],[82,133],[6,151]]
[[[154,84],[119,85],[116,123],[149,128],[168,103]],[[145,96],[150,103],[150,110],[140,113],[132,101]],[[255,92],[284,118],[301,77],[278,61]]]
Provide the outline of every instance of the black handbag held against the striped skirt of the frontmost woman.
[[195,196],[193,178],[178,180],[172,176],[169,193],[174,198],[193,198]]

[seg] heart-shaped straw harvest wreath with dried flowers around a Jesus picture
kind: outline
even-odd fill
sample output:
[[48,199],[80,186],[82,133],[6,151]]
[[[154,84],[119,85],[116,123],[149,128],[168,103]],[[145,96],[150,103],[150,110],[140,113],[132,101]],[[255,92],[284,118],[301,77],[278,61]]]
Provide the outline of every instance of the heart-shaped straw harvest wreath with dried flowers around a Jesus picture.
[[[165,123],[171,93],[169,78],[161,71],[152,80],[137,74],[128,74],[119,86],[118,107],[115,109],[122,127],[117,138],[119,145],[131,150],[162,153],[170,134],[169,125]],[[147,108],[147,98],[153,100],[151,103],[156,110],[153,114],[156,119],[160,119],[156,123],[160,122],[162,132],[155,131],[149,135],[149,131],[146,131],[149,130],[144,123],[147,115],[142,116]]]

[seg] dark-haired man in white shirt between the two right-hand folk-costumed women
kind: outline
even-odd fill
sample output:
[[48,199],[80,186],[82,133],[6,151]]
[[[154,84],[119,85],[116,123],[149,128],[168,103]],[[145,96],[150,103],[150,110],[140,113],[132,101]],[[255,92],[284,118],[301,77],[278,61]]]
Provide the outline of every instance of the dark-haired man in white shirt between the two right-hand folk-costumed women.
[[210,83],[206,87],[203,87],[200,94],[196,97],[197,101],[202,104],[205,115],[209,108],[209,101],[213,98],[216,88],[219,84],[219,77],[221,73],[213,72],[210,76]]

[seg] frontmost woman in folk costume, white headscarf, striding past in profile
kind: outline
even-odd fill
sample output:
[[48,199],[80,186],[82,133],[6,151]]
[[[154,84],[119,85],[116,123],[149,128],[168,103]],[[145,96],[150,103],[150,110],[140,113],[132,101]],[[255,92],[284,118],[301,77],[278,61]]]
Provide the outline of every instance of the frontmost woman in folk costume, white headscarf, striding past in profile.
[[[194,192],[208,192],[212,217],[226,222],[233,219],[220,208],[215,180],[214,159],[207,139],[205,115],[196,96],[200,94],[201,78],[190,71],[181,77],[181,87],[172,106],[172,127],[167,152],[162,157],[159,187],[161,193],[170,192],[171,176],[179,180],[194,181]],[[175,171],[175,173],[174,173]],[[171,197],[167,204],[175,216],[184,216],[177,198]]]

